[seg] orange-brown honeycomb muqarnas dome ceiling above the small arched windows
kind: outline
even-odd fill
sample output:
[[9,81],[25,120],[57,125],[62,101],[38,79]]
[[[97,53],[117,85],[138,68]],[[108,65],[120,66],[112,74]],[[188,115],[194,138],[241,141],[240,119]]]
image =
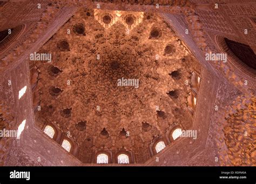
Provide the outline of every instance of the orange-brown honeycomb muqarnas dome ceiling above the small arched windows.
[[[97,150],[144,163],[154,139],[192,125],[185,81],[200,65],[155,13],[80,9],[39,53],[52,62],[30,62],[39,73],[36,125],[70,134],[84,163]],[[118,86],[122,78],[138,86]]]

